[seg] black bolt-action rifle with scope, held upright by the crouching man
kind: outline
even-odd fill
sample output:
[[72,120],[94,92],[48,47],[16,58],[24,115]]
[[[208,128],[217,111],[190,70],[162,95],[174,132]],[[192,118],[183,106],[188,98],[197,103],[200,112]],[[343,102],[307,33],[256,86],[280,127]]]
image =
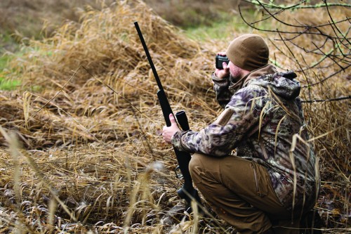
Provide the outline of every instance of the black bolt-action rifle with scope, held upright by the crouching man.
[[[140,27],[138,22],[134,22],[135,29],[138,32],[141,44],[143,44],[144,51],[147,56],[147,60],[149,60],[150,67],[152,72],[154,73],[154,78],[156,79],[157,85],[159,86],[159,91],[157,91],[157,97],[159,98],[159,104],[161,105],[162,113],[164,115],[164,120],[166,121],[166,126],[171,126],[171,121],[169,120],[169,114],[173,115],[171,105],[168,103],[168,99],[166,97],[166,93],[164,92],[164,88],[159,79],[159,75],[157,74],[156,68],[154,67],[154,63],[152,63],[152,59],[150,53],[145,44],[145,40],[143,34],[140,31]],[[185,111],[180,111],[176,113],[176,119],[178,120],[178,124],[183,129],[183,131],[189,130],[189,123],[187,122],[187,115],[185,115]],[[199,194],[197,190],[192,186],[192,177],[190,176],[189,171],[189,162],[191,160],[191,155],[188,152],[179,151],[176,148],[173,148],[174,152],[176,152],[176,157],[179,164],[179,169],[184,178],[183,187],[180,188],[177,193],[180,198],[185,199],[187,202],[187,211],[191,209],[191,201],[195,200],[197,204],[201,204]]]

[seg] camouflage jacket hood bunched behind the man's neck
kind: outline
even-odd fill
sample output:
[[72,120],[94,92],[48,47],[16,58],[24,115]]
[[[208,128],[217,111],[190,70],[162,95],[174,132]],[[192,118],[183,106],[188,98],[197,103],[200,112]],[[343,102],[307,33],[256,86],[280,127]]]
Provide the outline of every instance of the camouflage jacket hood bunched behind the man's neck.
[[277,72],[273,65],[266,65],[252,71],[245,79],[244,87],[249,84],[263,86],[277,96],[290,100],[300,94],[300,82],[294,79],[296,77],[295,72]]

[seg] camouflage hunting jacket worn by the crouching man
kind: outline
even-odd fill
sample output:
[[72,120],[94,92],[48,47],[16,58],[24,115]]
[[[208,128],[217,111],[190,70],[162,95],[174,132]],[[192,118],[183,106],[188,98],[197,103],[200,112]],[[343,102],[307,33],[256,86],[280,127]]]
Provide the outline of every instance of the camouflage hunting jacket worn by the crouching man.
[[267,65],[251,72],[238,88],[231,77],[213,75],[218,103],[225,110],[201,131],[178,131],[173,146],[213,157],[234,152],[258,162],[267,168],[284,207],[311,209],[319,190],[319,171],[314,152],[305,143],[300,83],[295,77],[294,72],[277,72]]

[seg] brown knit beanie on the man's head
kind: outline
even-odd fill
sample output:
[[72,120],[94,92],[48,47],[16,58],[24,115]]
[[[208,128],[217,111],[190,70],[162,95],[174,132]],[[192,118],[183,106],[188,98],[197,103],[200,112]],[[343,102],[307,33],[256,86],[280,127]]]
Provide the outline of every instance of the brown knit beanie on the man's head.
[[230,42],[226,55],[234,65],[251,72],[268,63],[270,50],[262,37],[244,34]]

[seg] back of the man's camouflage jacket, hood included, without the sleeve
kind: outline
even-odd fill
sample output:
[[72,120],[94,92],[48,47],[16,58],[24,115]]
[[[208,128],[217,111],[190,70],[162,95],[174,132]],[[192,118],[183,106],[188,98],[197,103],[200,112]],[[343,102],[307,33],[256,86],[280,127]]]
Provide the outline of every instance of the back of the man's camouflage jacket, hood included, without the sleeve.
[[[263,70],[270,70],[263,68]],[[243,90],[251,96],[252,111],[258,110],[257,126],[247,141],[237,147],[237,155],[267,168],[274,190],[286,208],[314,204],[319,189],[319,174],[307,131],[298,93],[300,84],[292,72],[264,74],[249,79]],[[227,108],[230,108],[231,101]],[[256,116],[258,117],[258,116]],[[293,204],[294,202],[294,204]]]

